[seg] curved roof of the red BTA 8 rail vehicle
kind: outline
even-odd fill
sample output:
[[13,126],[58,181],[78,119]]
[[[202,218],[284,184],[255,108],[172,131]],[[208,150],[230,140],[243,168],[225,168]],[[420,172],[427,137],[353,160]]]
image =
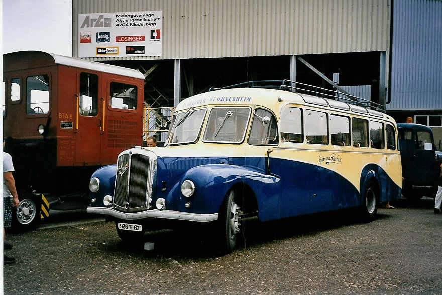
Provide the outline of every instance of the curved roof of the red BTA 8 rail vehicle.
[[[29,61],[28,61],[29,60]],[[31,62],[33,60],[34,62]],[[17,51],[3,55],[4,71],[21,70],[50,65],[65,65],[99,72],[144,80],[144,75],[137,70],[84,60],[81,58],[47,53],[43,51]]]

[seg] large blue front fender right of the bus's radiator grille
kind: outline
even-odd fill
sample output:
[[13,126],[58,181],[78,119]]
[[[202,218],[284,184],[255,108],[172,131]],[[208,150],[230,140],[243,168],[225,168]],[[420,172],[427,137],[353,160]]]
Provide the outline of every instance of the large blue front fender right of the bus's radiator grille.
[[[195,193],[187,198],[181,194],[181,184],[191,180],[195,184]],[[261,220],[277,219],[280,216],[280,179],[263,174],[249,167],[207,164],[189,169],[179,182],[173,185],[166,203],[176,206],[177,210],[192,213],[209,214],[219,212],[227,192],[234,186],[247,185],[255,194],[258,216]],[[189,202],[190,208],[184,207]]]

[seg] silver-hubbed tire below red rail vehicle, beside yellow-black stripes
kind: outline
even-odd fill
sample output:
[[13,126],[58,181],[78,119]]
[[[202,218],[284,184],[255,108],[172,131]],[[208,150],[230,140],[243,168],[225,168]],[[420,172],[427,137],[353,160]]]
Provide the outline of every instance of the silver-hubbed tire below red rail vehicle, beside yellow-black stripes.
[[14,227],[18,230],[33,228],[40,220],[40,203],[38,199],[26,198],[12,212]]

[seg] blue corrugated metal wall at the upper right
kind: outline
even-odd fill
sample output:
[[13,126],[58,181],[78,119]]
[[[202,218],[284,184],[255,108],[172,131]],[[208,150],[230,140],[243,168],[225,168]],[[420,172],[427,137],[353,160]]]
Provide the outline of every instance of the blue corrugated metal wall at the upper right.
[[442,1],[395,0],[393,14],[387,110],[442,109]]

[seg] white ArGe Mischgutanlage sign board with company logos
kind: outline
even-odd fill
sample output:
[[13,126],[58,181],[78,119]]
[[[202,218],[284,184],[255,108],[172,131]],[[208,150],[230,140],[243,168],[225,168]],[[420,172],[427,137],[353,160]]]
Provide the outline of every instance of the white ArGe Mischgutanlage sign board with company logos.
[[163,12],[78,14],[78,57],[163,55]]

